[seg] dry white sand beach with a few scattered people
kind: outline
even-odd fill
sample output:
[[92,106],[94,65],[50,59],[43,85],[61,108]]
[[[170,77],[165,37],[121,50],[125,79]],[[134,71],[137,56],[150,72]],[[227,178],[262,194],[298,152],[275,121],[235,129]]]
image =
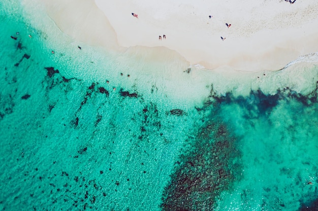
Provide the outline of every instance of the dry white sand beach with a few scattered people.
[[168,48],[207,69],[278,70],[318,52],[314,0],[43,2],[56,25],[80,41],[117,51],[160,47],[153,48],[157,57]]

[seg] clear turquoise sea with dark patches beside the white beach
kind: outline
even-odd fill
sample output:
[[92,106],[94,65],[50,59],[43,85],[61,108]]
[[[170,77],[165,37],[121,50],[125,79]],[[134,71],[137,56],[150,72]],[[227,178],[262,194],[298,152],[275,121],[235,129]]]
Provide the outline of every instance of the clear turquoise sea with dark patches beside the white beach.
[[5,3],[0,209],[318,210],[318,67],[306,94],[212,84],[192,103]]

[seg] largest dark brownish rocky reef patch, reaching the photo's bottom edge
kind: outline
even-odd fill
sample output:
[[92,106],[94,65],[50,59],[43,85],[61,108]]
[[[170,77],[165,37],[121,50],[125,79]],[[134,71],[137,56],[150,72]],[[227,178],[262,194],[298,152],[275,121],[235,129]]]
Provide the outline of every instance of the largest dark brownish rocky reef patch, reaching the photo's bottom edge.
[[162,210],[214,210],[220,193],[240,179],[241,165],[235,161],[240,152],[235,143],[224,124],[208,122],[198,132],[192,150],[176,162],[163,192]]

